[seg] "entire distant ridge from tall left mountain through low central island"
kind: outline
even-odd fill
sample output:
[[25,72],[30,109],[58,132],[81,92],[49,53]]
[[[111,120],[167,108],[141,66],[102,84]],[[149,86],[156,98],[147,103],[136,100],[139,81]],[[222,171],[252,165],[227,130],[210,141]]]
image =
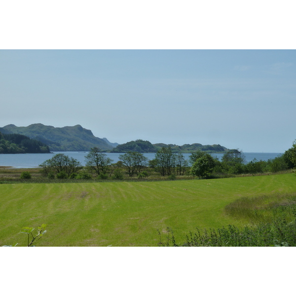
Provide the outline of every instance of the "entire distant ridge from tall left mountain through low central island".
[[21,134],[31,139],[36,139],[50,148],[50,151],[90,151],[93,147],[100,148],[103,152],[126,153],[137,151],[141,153],[155,153],[162,147],[171,147],[174,153],[191,153],[197,150],[208,153],[224,153],[235,150],[221,145],[201,145],[199,143],[184,144],[151,144],[149,141],[136,140],[119,145],[111,143],[107,138],[95,137],[91,130],[83,128],[80,124],[74,126],[54,127],[42,123],[33,123],[27,127],[17,127],[8,124],[0,127],[2,134]]

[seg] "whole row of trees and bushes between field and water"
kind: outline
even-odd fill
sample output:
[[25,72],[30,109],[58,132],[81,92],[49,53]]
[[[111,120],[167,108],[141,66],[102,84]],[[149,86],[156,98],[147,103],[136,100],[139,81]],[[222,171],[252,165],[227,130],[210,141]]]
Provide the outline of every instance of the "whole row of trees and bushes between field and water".
[[253,159],[246,163],[242,151],[228,151],[219,160],[211,154],[198,150],[189,155],[173,153],[170,147],[157,150],[155,157],[148,160],[143,153],[129,151],[119,155],[119,161],[113,163],[100,148],[91,148],[85,156],[85,167],[73,157],[63,153],[54,155],[39,166],[48,178],[72,179],[123,179],[147,178],[150,174],[175,179],[177,176],[194,176],[199,178],[219,178],[239,174],[276,173],[296,167],[296,141],[284,154],[267,161]]

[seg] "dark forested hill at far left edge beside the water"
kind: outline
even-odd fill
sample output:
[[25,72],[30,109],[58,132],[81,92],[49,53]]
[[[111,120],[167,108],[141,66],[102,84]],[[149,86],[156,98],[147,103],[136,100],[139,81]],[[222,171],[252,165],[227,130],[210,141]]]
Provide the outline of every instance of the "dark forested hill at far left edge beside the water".
[[0,154],[15,153],[50,153],[50,150],[44,143],[27,136],[0,132]]

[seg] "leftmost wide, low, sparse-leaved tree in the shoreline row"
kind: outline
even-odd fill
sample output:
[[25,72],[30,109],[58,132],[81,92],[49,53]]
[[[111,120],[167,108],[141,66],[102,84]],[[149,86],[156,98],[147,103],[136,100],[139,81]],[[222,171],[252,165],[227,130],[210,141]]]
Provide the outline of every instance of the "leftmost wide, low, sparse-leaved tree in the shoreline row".
[[81,163],[73,158],[65,155],[64,153],[57,153],[51,159],[45,160],[39,164],[43,169],[44,175],[48,175],[49,172],[61,173],[64,172],[68,177],[72,173],[76,173],[81,169]]

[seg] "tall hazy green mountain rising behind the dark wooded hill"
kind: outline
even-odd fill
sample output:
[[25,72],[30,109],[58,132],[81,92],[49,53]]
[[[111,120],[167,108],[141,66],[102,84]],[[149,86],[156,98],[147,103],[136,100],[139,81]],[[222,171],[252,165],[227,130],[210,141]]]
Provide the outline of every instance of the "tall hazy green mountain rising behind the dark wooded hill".
[[111,144],[95,137],[91,130],[87,130],[79,124],[65,127],[53,127],[41,123],[31,124],[27,127],[9,124],[0,128],[0,132],[2,134],[21,134],[39,140],[48,145],[50,151],[89,151],[93,147],[108,151],[113,148]]

